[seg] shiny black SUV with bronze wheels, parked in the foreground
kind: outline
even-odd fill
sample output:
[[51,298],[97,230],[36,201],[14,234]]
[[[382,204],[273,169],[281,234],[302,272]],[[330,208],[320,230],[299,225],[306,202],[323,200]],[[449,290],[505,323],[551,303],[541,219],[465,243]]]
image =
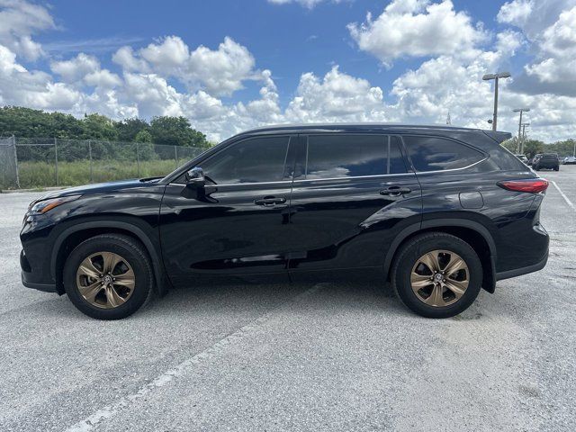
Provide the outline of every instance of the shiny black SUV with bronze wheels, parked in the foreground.
[[49,193],[23,220],[23,284],[104,320],[214,281],[389,280],[426,317],[535,272],[548,183],[509,134],[374,124],[249,130],[164,178]]

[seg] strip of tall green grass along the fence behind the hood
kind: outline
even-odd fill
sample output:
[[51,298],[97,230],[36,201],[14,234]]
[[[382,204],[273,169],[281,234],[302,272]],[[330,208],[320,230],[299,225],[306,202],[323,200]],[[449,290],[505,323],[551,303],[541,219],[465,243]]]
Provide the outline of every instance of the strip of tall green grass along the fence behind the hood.
[[58,162],[58,184],[54,163],[22,161],[18,163],[18,173],[20,175],[20,187],[29,189],[49,186],[76,186],[126,178],[166,175],[175,167],[174,159],[144,160],[140,161],[139,164],[134,161],[115,159],[94,160],[91,175],[89,160]]

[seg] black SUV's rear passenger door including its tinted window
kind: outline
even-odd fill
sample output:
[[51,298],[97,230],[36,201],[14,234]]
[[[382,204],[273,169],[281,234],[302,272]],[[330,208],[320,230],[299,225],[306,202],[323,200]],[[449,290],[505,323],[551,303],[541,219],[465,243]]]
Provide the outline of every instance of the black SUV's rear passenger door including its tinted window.
[[302,135],[286,239],[291,277],[381,268],[392,239],[419,223],[420,211],[420,185],[400,137]]

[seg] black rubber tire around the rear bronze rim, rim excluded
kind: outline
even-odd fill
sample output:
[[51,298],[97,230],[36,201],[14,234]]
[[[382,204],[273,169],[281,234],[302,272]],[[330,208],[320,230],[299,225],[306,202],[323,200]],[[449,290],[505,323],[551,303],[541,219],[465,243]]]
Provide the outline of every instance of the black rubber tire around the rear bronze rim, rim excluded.
[[[464,259],[469,269],[468,287],[456,302],[444,307],[431,306],[412,291],[410,274],[420,257],[433,250],[454,252]],[[449,318],[465,311],[476,300],[482,287],[482,263],[473,247],[462,238],[443,232],[430,232],[411,238],[401,246],[392,265],[392,287],[411,311],[427,318]]]

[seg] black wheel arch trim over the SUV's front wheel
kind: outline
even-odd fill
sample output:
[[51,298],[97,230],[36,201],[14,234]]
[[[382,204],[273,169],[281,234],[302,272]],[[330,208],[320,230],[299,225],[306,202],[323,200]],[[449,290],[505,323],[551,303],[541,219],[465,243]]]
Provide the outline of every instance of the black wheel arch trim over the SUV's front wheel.
[[152,243],[143,229],[128,221],[121,220],[93,220],[76,223],[64,229],[56,238],[50,259],[50,273],[56,281],[56,289],[59,294],[64,293],[62,284],[62,272],[64,263],[70,252],[88,238],[100,234],[124,234],[138,240],[148,252],[152,264],[155,279],[155,291],[159,295],[167,292],[168,281],[164,272],[162,257],[157,247]]

